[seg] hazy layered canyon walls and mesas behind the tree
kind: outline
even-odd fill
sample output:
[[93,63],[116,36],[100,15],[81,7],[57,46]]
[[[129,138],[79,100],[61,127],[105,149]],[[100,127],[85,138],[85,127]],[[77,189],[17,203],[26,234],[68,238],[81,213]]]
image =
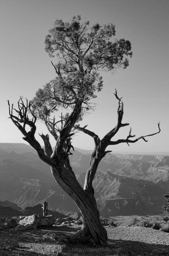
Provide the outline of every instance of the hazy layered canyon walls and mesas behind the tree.
[[[82,186],[90,155],[90,150],[75,148],[70,156]],[[24,143],[0,143],[0,176],[1,214],[5,214],[3,207],[13,207],[13,214],[21,208],[24,214],[40,214],[44,201],[50,210],[58,209],[64,216],[79,212],[55,182],[50,166]],[[107,154],[99,164],[93,185],[102,216],[161,214],[164,195],[169,191],[169,155]],[[34,206],[36,209],[29,208]]]

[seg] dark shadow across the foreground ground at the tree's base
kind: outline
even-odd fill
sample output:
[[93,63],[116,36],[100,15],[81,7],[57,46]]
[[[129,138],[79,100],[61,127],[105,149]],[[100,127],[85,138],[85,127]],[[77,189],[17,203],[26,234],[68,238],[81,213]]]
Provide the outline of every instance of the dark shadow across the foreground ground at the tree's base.
[[[130,240],[108,240],[107,247],[70,243],[71,236],[80,227],[55,226],[24,231],[0,232],[0,256],[169,256],[169,245],[148,244]],[[44,239],[47,233],[55,233],[55,240]]]

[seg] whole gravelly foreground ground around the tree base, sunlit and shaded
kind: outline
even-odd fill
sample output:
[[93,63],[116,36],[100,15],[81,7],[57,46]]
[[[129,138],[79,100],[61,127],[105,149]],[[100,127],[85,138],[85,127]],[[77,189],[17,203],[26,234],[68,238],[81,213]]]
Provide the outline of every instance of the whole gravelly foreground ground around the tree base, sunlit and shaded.
[[[0,230],[1,256],[168,256],[169,233],[138,226],[106,226],[107,247],[92,243],[70,243],[67,236],[80,225],[52,226],[46,229]],[[55,240],[49,238],[54,235]]]

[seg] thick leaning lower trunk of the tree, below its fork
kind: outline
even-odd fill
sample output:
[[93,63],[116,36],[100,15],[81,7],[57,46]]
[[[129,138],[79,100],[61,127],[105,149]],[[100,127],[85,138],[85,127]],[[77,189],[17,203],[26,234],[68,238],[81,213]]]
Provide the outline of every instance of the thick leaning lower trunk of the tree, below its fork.
[[71,170],[67,170],[64,167],[59,169],[59,166],[51,168],[52,175],[60,187],[74,200],[83,217],[82,228],[76,235],[82,237],[91,236],[95,244],[107,245],[107,231],[100,221],[93,193],[85,191],[81,187]]

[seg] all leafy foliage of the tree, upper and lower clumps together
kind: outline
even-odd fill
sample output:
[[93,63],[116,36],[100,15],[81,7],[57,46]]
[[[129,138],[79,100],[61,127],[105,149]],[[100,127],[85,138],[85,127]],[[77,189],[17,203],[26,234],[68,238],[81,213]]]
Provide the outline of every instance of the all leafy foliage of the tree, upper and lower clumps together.
[[[45,49],[50,57],[56,55],[54,65],[57,77],[36,92],[31,101],[32,111],[47,125],[51,113],[59,108],[74,108],[83,103],[78,120],[93,108],[91,99],[102,90],[103,80],[98,71],[114,71],[129,65],[131,44],[125,39],[114,39],[115,26],[99,23],[90,26],[74,16],[70,22],[56,20],[45,39]],[[62,116],[62,121],[69,116]],[[61,122],[61,121],[60,121]]]

